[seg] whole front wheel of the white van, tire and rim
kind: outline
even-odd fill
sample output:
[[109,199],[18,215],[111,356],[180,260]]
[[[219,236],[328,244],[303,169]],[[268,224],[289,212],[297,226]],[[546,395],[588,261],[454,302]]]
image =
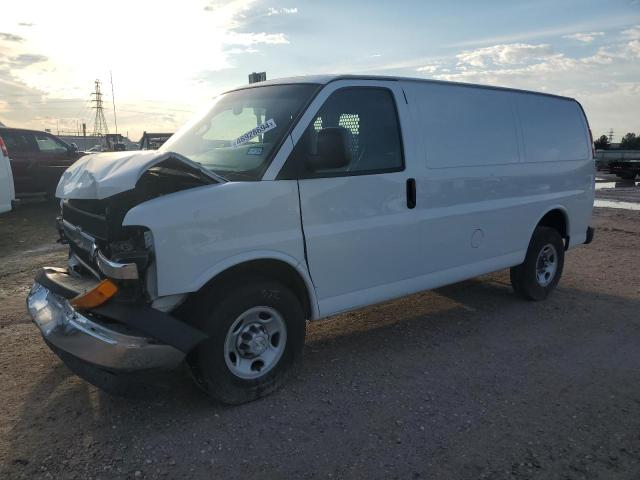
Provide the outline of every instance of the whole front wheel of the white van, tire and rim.
[[240,404],[282,386],[302,354],[304,310],[284,285],[253,279],[229,285],[205,306],[209,339],[190,359],[198,385],[222,403]]

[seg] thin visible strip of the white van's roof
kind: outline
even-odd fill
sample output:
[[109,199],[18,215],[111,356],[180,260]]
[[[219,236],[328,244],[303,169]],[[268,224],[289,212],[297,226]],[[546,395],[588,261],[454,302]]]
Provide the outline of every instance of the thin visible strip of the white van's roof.
[[509,92],[520,92],[520,93],[531,93],[534,95],[544,95],[548,97],[562,98],[564,100],[573,100],[574,98],[565,97],[562,95],[555,95],[552,93],[545,92],[536,92],[534,90],[522,90],[518,88],[508,88],[508,87],[496,87],[493,85],[480,85],[475,83],[463,83],[463,82],[448,82],[445,80],[433,80],[429,78],[415,78],[415,77],[394,77],[387,75],[304,75],[299,77],[284,77],[284,78],[274,78],[273,80],[266,80],[264,82],[256,82],[248,85],[244,85],[242,87],[234,88],[232,90],[242,90],[245,88],[254,88],[254,87],[264,87],[268,85],[288,85],[294,83],[315,83],[319,85],[326,85],[331,82],[335,82],[336,80],[380,80],[380,81],[394,81],[394,82],[426,82],[426,83],[437,83],[444,85],[459,85],[463,87],[475,87],[475,88],[488,88],[491,90],[505,90]]

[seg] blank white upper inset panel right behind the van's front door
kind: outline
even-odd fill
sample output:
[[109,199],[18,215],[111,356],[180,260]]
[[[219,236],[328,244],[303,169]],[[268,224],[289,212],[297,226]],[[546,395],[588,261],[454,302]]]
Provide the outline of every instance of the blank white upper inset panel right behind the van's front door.
[[511,93],[455,85],[414,90],[429,168],[519,161]]

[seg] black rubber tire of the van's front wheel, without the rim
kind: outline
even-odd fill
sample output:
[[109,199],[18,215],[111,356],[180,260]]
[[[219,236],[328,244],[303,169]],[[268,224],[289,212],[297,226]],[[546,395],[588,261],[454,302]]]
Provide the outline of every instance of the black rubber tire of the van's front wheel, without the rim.
[[[202,302],[199,308],[202,328],[210,337],[189,358],[196,384],[211,398],[230,405],[257,400],[274,392],[285,383],[302,355],[306,320],[300,301],[284,285],[261,278],[228,285],[215,297]],[[277,363],[264,375],[245,379],[227,365],[225,344],[227,334],[241,314],[258,306],[280,314],[286,325],[286,343]]]

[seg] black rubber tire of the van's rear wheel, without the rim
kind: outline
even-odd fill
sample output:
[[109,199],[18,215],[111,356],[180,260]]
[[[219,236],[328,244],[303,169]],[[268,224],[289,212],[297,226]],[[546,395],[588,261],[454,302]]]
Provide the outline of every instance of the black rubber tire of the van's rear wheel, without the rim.
[[[547,248],[548,246],[552,246],[553,249]],[[541,283],[538,279],[538,261],[543,249],[546,249],[545,253],[551,252],[554,255],[556,265],[555,273],[544,279],[544,281],[548,281],[546,284]],[[544,300],[558,285],[563,267],[564,242],[560,233],[554,228],[537,227],[529,242],[524,262],[511,268],[511,285],[517,294],[527,300]],[[544,277],[544,274],[541,273],[541,276]]]

